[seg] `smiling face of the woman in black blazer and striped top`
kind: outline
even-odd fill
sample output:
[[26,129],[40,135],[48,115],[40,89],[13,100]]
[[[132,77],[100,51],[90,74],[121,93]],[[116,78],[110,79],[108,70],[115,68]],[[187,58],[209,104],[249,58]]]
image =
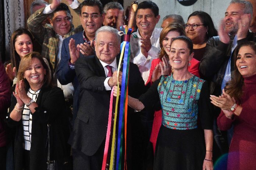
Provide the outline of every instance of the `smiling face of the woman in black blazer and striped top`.
[[29,86],[33,90],[33,87],[43,86],[45,74],[46,70],[43,68],[40,60],[38,58],[32,58],[31,65],[24,72],[24,79],[28,81]]

